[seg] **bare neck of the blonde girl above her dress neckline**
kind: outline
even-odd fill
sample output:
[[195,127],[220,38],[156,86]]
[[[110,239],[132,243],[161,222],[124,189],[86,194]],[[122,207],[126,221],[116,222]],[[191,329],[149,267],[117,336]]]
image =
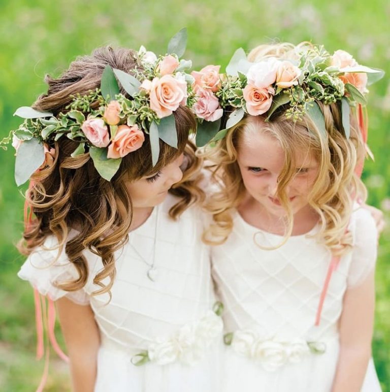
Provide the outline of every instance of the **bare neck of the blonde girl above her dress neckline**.
[[[246,195],[237,208],[242,218],[250,225],[268,233],[283,236],[286,231],[286,220],[271,214],[262,204],[250,195]],[[317,224],[318,214],[309,206],[303,207],[294,214],[292,236],[300,236],[310,232]]]

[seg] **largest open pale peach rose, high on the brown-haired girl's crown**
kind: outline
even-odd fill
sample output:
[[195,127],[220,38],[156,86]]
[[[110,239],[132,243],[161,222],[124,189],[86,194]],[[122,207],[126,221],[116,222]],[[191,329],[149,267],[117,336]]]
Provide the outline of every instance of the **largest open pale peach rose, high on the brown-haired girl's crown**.
[[164,75],[152,80],[150,84],[150,109],[156,112],[158,118],[170,116],[179,105],[185,105],[186,102],[187,83],[184,77],[175,78],[172,75]]

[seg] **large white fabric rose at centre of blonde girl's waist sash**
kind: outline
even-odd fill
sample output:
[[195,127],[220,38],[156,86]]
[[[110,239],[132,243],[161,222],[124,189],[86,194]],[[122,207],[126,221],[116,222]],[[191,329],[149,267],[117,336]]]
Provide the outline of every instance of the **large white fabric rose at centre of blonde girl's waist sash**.
[[257,342],[253,347],[252,355],[269,372],[280,368],[288,359],[286,347],[272,340]]

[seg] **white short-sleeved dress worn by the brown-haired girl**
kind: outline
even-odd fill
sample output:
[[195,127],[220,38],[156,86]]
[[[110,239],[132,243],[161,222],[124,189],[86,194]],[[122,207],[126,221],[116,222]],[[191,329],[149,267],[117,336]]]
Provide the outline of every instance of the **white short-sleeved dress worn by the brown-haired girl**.
[[[107,293],[91,296],[99,289],[92,279],[102,269],[102,260],[89,251],[88,282],[77,292],[53,285],[77,276],[66,255],[53,264],[55,250],[30,254],[18,274],[52,300],[67,296],[91,306],[102,342],[96,392],[219,390],[222,320],[212,311],[215,298],[209,247],[201,242],[202,212],[190,207],[173,221],[168,211],[176,201],[168,195],[115,253],[117,275],[110,302]],[[147,263],[152,263],[154,244],[152,281]],[[53,245],[55,240],[47,239],[45,246]],[[146,350],[150,361],[135,366],[145,358],[137,354]]]

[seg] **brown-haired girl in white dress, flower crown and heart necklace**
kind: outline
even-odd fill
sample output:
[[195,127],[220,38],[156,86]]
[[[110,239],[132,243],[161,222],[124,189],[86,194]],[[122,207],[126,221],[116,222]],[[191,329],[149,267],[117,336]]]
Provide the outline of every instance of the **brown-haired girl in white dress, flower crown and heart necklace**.
[[75,391],[217,390],[187,64],[96,49],[16,113],[19,277],[49,299],[49,335],[55,301]]

